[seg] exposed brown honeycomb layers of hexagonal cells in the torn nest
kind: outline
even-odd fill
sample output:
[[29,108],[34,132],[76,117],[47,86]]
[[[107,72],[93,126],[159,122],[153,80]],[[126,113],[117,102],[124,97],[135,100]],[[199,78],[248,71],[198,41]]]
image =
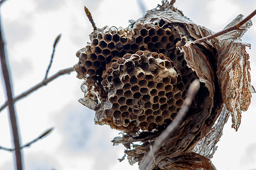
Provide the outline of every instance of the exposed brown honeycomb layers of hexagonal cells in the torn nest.
[[[74,68],[97,94],[94,107],[89,104],[96,123],[127,132],[169,124],[197,78],[176,46],[182,42],[174,25],[161,20],[126,29],[106,26],[90,39],[77,52]],[[92,98],[88,91],[80,99],[86,106]]]

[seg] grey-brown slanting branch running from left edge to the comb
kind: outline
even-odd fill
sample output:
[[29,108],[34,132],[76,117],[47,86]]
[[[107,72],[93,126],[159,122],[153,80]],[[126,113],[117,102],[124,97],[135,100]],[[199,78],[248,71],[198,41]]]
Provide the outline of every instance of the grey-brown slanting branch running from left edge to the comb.
[[[63,75],[63,74],[69,74],[71,73],[72,71],[74,71],[73,67],[70,67],[70,68],[67,68],[67,69],[63,69],[63,70],[60,70],[58,71],[57,73],[55,73],[54,75],[50,76],[49,78],[47,79],[44,79],[42,82],[36,84],[35,86],[29,88],[27,91],[24,91],[22,94],[16,96],[13,100],[14,102],[19,100],[19,99],[22,99],[23,97],[26,97],[27,95],[31,94],[32,92],[34,92],[35,90],[38,90],[38,88],[40,87],[43,87],[43,86],[46,86],[49,82],[51,82],[52,80],[56,79],[57,77],[59,77],[60,75]],[[3,104],[0,108],[0,112],[5,108],[7,107],[8,103],[7,101],[5,102],[5,104]]]

